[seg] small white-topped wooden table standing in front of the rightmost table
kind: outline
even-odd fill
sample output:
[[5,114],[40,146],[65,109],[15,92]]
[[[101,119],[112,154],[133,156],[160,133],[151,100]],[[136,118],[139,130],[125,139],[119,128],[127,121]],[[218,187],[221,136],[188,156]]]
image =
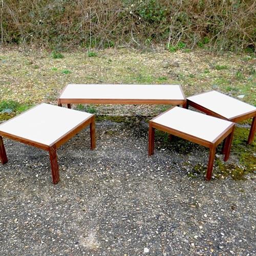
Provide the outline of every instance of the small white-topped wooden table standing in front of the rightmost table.
[[154,154],[155,129],[209,147],[210,155],[206,180],[210,180],[216,147],[224,139],[226,139],[222,148],[222,153],[225,154],[224,161],[229,158],[234,124],[233,122],[175,106],[150,120],[148,156]]

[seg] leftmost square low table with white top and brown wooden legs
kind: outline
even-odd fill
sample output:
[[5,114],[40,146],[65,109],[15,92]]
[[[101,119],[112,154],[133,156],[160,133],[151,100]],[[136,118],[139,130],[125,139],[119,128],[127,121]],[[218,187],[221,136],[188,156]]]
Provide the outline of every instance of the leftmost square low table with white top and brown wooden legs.
[[59,181],[57,148],[90,124],[91,149],[95,148],[95,116],[46,103],[0,124],[0,160],[7,163],[3,137],[49,151],[53,184]]

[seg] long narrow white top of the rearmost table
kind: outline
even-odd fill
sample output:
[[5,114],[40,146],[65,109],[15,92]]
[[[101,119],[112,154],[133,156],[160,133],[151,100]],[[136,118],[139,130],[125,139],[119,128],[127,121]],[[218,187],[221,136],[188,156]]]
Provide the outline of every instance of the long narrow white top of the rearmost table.
[[68,84],[60,99],[184,100],[179,85],[169,84]]

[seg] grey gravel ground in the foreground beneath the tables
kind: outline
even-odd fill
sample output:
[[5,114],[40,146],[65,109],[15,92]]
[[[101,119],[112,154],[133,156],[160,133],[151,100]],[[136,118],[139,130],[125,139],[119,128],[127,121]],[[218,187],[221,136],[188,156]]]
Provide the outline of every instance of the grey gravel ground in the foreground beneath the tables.
[[255,255],[255,175],[189,178],[208,149],[156,135],[147,157],[141,120],[96,133],[94,151],[88,129],[59,148],[57,185],[47,152],[4,139],[0,255]]

